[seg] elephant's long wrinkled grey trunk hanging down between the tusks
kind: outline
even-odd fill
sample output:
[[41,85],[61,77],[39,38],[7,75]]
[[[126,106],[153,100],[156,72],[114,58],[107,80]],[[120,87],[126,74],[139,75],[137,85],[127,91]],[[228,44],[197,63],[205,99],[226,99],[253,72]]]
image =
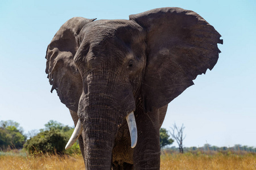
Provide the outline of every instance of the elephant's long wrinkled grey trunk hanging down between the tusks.
[[104,94],[98,88],[97,91],[90,91],[80,98],[78,114],[85,134],[86,169],[111,168],[112,150],[117,131],[127,114],[134,110],[134,108],[125,107],[117,98],[111,93]]

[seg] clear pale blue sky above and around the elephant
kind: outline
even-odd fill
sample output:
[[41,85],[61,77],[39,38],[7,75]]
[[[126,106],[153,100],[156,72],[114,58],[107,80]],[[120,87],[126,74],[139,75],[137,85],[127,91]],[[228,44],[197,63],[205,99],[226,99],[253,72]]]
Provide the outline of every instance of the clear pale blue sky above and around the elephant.
[[256,1],[7,1],[0,2],[0,120],[27,132],[49,120],[73,126],[56,91],[51,94],[46,48],[74,16],[129,19],[158,7],[197,12],[222,35],[224,45],[212,71],[197,76],[168,106],[163,128],[184,124],[184,145],[235,144],[256,147]]

